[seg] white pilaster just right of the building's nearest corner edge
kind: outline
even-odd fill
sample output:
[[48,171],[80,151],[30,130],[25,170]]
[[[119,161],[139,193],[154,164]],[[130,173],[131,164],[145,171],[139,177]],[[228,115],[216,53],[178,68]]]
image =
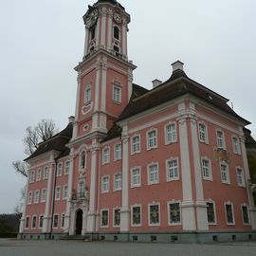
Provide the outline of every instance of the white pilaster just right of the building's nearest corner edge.
[[201,172],[201,159],[198,144],[196,119],[191,117],[191,133],[192,133],[192,156],[194,163],[194,180],[195,180],[195,210],[197,220],[197,230],[209,230],[207,219],[207,204],[204,201],[204,191]]

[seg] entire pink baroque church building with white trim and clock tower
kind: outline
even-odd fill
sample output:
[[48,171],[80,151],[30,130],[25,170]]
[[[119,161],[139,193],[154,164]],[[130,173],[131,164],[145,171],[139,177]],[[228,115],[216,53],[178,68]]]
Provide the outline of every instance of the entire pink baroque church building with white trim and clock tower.
[[[99,0],[83,16],[75,117],[30,155],[23,239],[133,242],[255,239],[244,127],[183,63],[133,82],[130,15]],[[142,39],[141,39],[142,40]]]

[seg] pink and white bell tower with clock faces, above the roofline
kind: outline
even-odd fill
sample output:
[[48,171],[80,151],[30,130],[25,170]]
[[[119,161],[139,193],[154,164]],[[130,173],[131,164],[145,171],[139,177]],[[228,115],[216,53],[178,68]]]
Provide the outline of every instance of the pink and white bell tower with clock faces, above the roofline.
[[128,61],[130,15],[116,0],[99,0],[83,16],[85,41],[78,71],[73,139],[91,133],[104,136],[132,94],[133,70]]

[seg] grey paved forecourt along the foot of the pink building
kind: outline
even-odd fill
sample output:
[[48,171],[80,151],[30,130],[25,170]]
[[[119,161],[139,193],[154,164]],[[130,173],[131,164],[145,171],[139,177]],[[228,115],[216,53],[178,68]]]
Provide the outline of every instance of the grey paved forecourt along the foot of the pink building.
[[0,239],[0,256],[256,256],[256,242],[211,245]]

